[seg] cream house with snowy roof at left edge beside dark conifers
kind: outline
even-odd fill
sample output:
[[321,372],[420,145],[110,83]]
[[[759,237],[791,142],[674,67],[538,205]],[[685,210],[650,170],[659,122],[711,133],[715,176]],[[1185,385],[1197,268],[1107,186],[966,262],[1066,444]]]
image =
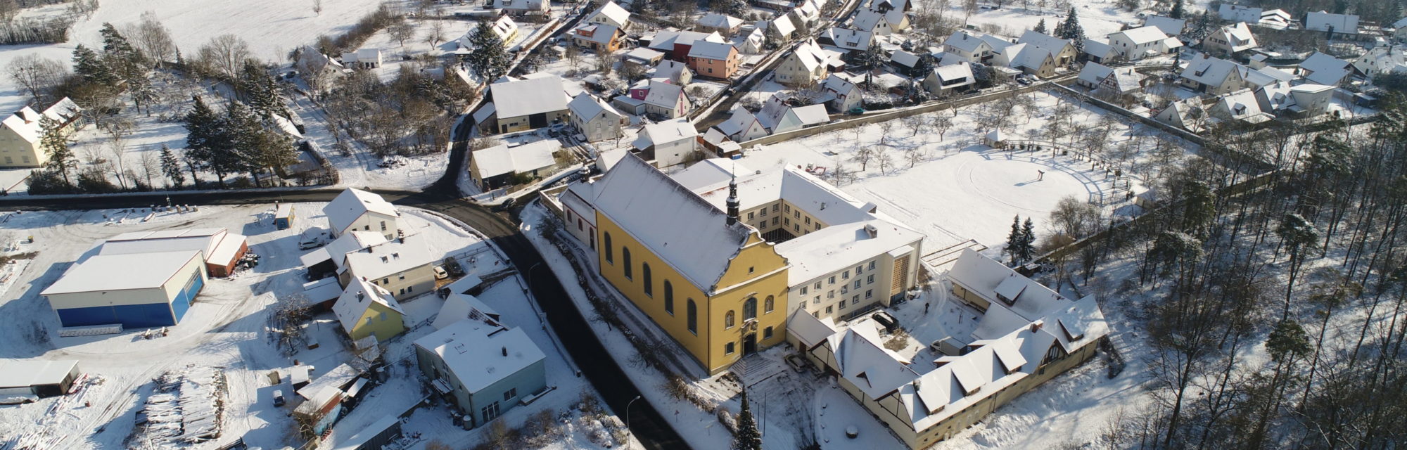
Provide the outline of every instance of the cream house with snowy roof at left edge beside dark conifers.
[[44,118],[52,120],[59,132],[68,136],[79,128],[82,114],[83,110],[69,97],[53,103],[44,114],[30,107],[10,114],[0,121],[0,167],[42,167],[49,162],[49,155],[39,148],[45,132]]

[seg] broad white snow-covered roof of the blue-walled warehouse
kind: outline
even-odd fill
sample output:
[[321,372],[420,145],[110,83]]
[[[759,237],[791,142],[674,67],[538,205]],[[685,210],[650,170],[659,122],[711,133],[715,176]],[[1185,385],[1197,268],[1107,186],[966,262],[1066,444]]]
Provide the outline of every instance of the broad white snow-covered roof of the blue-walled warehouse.
[[58,281],[53,281],[39,295],[160,287],[173,277],[182,276],[180,270],[190,260],[198,259],[200,255],[200,250],[94,255],[69,267]]

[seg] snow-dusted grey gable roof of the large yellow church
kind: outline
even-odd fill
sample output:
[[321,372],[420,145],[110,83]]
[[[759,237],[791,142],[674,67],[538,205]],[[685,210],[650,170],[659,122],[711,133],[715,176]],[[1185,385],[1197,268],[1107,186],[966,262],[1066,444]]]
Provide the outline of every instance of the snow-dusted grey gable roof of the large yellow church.
[[597,211],[704,291],[712,291],[751,228],[640,158],[628,155],[597,180]]

